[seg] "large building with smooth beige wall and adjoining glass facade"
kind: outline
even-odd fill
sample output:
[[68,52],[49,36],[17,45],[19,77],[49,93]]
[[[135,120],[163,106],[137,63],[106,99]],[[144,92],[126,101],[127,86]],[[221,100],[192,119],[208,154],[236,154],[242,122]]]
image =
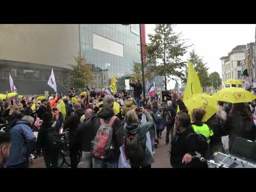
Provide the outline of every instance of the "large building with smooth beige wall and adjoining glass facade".
[[[0,25],[0,93],[10,91],[9,73],[20,94],[44,94],[54,70],[58,92],[71,86],[69,65],[80,52],[93,65],[95,88],[125,87],[134,62],[141,62],[139,24]],[[30,86],[28,86],[30,85]]]

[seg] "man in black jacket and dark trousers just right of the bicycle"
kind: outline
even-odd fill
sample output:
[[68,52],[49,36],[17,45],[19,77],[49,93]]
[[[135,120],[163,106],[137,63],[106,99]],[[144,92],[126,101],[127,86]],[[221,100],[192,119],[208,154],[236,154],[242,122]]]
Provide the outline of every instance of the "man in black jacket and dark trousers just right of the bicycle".
[[70,150],[70,162],[71,168],[76,168],[78,164],[77,153],[73,147],[73,142],[76,136],[76,131],[78,124],[80,123],[80,119],[82,115],[84,115],[84,111],[82,110],[80,103],[74,104],[74,113],[71,114],[67,121],[64,124],[64,130],[69,129],[69,150]]

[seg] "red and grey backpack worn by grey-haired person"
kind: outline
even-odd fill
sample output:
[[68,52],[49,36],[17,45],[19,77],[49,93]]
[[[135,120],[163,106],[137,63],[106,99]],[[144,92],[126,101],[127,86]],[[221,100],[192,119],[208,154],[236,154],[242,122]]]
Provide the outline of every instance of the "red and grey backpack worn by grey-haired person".
[[113,152],[113,123],[117,116],[111,117],[109,123],[105,123],[102,118],[100,119],[100,127],[94,138],[93,150],[95,158],[106,159],[111,157]]

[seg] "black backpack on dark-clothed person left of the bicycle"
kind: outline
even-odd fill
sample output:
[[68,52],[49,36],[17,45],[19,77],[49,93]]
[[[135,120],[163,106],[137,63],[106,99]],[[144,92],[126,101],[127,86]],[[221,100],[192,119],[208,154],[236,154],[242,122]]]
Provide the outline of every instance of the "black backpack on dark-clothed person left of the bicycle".
[[55,129],[56,122],[47,130],[46,143],[48,148],[52,151],[58,151],[61,148],[61,139],[59,133]]

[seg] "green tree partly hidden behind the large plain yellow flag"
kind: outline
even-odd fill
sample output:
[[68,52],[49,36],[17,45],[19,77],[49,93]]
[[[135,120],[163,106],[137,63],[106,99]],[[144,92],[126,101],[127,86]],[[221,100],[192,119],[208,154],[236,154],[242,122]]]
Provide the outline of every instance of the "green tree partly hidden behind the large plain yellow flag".
[[193,65],[193,67],[196,70],[196,73],[199,77],[200,83],[202,86],[206,87],[206,86],[210,86],[211,82],[208,76],[208,67],[206,66],[207,63],[205,63],[203,61],[203,57],[199,57],[195,50],[193,50],[192,52],[189,53],[190,57],[190,63]]

